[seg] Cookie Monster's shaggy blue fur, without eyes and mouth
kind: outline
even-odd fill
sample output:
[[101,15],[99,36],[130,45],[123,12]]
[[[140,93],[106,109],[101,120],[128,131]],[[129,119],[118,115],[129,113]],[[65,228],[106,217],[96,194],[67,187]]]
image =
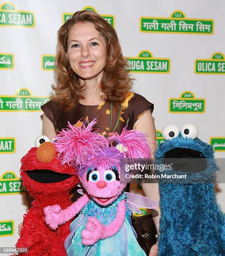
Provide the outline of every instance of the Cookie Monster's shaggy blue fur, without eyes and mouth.
[[[156,159],[161,161],[165,153],[174,148],[202,152],[207,168],[189,173],[188,179],[177,180],[177,183],[159,179],[159,256],[224,256],[225,217],[216,202],[212,182],[217,171],[212,147],[199,138],[183,138],[179,133],[177,138],[159,145]],[[173,169],[167,173],[185,174]]]

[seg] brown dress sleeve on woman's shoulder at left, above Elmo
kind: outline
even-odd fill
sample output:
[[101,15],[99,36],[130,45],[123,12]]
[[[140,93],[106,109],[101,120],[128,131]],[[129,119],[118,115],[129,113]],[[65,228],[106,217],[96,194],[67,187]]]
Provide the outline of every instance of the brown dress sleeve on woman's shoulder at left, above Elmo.
[[61,113],[57,104],[49,100],[46,104],[42,105],[40,108],[42,109],[44,114],[47,116],[47,118],[51,120],[54,127],[56,128],[56,120]]

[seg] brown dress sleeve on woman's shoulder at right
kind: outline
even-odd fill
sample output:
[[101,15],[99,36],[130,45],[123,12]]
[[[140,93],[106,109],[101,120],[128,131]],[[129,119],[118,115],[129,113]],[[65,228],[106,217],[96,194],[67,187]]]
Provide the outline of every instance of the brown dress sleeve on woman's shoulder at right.
[[142,95],[134,93],[134,96],[129,100],[129,105],[126,111],[134,125],[134,123],[136,123],[136,121],[149,109],[152,113],[154,104],[146,100]]

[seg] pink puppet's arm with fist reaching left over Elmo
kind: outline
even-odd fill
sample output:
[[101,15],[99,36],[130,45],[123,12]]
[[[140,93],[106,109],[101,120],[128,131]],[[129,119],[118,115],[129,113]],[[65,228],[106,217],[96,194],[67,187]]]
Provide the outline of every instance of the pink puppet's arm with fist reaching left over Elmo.
[[44,213],[46,215],[45,221],[50,228],[56,229],[58,228],[58,225],[73,218],[88,201],[90,201],[90,197],[87,194],[84,194],[64,210],[61,210],[59,205],[47,206],[44,208]]

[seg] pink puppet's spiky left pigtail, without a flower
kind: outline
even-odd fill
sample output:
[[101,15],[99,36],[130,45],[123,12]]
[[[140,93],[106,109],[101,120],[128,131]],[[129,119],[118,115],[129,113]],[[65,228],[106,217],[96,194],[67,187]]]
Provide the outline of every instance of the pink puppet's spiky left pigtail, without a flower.
[[96,118],[88,123],[83,122],[81,126],[74,127],[68,122],[68,128],[58,133],[53,141],[56,150],[59,152],[62,164],[70,166],[80,165],[86,161],[89,154],[96,154],[97,150],[108,145],[106,138],[98,134],[98,130],[92,131]]

